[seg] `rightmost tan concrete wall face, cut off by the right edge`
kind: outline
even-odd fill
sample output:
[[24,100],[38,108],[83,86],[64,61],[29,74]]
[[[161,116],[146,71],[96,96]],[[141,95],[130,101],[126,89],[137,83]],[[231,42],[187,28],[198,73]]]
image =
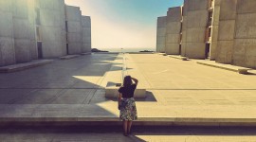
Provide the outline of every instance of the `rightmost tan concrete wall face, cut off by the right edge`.
[[233,64],[256,68],[256,1],[238,0]]

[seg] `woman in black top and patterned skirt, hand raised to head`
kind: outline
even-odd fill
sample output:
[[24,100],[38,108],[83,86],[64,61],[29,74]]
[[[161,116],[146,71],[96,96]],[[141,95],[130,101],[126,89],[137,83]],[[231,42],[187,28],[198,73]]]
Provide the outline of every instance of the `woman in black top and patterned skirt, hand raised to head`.
[[137,82],[137,79],[126,76],[123,80],[123,85],[119,88],[119,101],[122,101],[123,104],[123,107],[120,108],[120,119],[123,121],[123,134],[125,136],[131,134],[132,122],[137,119],[137,108],[134,98]]

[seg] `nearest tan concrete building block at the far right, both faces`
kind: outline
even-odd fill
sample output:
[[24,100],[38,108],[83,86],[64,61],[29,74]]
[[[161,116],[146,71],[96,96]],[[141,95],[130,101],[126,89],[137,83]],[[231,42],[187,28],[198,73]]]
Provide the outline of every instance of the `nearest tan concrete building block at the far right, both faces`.
[[256,68],[255,6],[253,0],[221,1],[216,62]]

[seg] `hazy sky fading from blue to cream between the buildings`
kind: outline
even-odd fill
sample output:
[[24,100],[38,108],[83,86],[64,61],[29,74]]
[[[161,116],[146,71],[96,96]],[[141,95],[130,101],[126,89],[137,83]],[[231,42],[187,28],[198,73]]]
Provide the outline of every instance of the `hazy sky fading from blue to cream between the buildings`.
[[155,47],[156,20],[183,0],[65,0],[91,16],[92,47]]

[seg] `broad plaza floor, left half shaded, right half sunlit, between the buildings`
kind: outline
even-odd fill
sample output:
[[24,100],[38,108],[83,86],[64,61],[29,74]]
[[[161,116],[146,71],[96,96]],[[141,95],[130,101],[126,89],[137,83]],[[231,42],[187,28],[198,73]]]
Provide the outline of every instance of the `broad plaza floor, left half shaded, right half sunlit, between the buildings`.
[[[255,75],[157,54],[126,58],[128,73],[139,72],[136,78],[147,87],[147,98],[137,99],[140,124],[256,124]],[[121,69],[117,60],[117,54],[92,54],[0,74],[1,122],[118,121],[117,102],[104,98],[103,89],[113,63]]]

